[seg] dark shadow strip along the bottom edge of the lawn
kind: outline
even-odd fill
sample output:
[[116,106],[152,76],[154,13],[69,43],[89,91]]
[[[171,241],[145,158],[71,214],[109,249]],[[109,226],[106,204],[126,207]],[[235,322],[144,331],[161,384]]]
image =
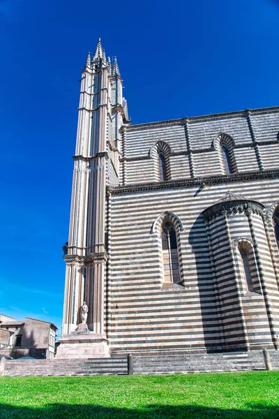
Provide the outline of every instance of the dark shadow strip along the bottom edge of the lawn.
[[276,419],[279,417],[278,406],[251,405],[246,410],[216,409],[204,406],[161,406],[152,404],[139,409],[118,409],[94,404],[46,404],[43,408],[15,407],[10,404],[0,405],[1,419],[32,418],[176,418],[176,419]]

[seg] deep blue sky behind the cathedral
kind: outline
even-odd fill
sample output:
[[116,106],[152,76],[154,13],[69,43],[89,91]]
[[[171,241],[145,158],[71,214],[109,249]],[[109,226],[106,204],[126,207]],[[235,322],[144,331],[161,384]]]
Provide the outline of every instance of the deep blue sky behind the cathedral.
[[278,105],[276,0],[0,0],[0,313],[61,327],[80,71],[101,37],[133,124]]

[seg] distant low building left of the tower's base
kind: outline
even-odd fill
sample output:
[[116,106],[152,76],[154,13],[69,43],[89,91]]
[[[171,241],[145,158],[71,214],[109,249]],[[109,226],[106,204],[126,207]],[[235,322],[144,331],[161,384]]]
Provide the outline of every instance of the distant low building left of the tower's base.
[[53,323],[26,317],[24,321],[0,314],[0,353],[13,358],[54,358]]

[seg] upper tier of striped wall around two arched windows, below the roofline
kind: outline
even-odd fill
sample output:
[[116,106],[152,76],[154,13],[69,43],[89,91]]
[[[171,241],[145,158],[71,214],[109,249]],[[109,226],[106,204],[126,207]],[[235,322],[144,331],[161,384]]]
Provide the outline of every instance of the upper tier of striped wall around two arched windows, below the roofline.
[[169,163],[172,179],[223,174],[219,150],[214,145],[220,132],[234,140],[237,172],[277,167],[278,108],[232,112],[126,127],[121,166],[125,162],[127,182],[123,184],[153,182],[156,179],[150,150],[159,140],[167,142],[171,149]]

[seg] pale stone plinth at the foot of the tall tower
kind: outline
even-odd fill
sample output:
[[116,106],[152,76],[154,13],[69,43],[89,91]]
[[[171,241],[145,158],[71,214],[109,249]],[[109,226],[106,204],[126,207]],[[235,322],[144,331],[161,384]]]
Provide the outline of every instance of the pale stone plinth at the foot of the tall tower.
[[110,356],[105,335],[64,335],[59,339],[55,358],[107,358]]

